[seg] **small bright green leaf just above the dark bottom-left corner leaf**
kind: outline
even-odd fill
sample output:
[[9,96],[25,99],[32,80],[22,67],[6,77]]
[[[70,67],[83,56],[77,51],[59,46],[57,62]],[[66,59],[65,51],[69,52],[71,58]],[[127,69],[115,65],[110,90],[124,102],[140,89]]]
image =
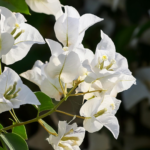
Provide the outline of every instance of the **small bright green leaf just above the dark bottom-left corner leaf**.
[[20,135],[23,139],[27,140],[28,137],[27,137],[27,133],[26,133],[26,128],[24,125],[22,126],[17,126],[17,127],[14,127],[12,129],[12,133],[16,133],[18,135]]

